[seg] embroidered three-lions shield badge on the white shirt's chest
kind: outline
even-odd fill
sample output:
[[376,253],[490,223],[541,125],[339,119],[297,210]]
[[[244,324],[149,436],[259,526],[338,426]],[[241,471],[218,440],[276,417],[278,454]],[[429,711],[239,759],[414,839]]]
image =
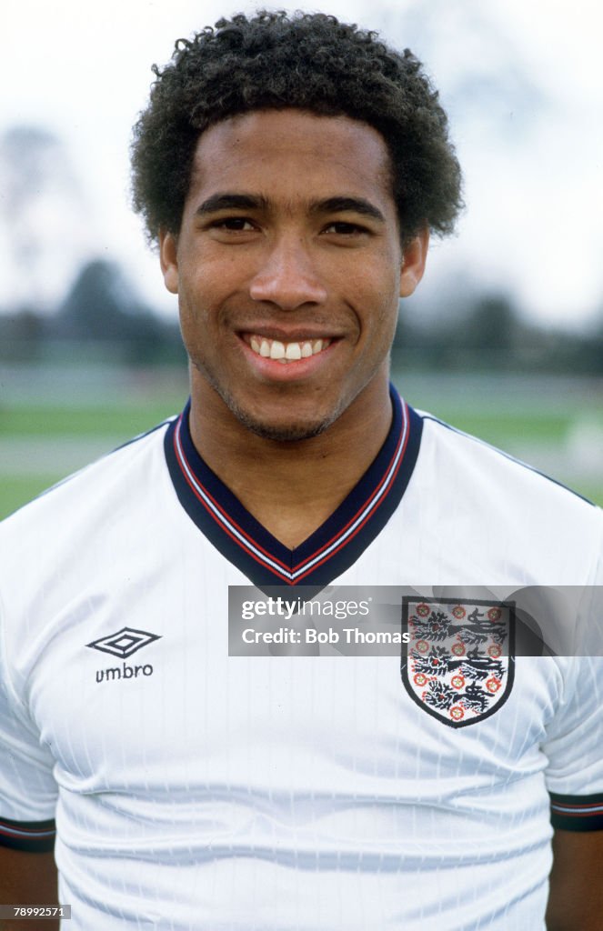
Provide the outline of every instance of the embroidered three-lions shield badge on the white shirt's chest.
[[514,603],[404,597],[402,681],[420,708],[450,727],[484,721],[514,680]]

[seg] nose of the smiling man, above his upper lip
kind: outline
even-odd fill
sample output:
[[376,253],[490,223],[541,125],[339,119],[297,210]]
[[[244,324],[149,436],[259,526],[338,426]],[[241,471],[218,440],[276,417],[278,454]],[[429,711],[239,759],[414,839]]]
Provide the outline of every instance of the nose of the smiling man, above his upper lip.
[[250,285],[254,301],[295,310],[303,304],[322,304],[327,292],[308,244],[300,236],[281,236],[274,242]]

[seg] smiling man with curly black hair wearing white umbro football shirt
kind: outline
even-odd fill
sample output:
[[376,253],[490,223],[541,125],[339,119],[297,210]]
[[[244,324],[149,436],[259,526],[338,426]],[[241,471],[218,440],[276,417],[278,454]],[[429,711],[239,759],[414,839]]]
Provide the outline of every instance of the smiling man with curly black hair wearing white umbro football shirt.
[[5,524],[3,900],[49,899],[56,818],[73,931],[536,931],[552,798],[547,927],[600,928],[594,660],[491,652],[504,701],[475,672],[436,707],[399,655],[228,656],[228,586],[601,581],[594,506],[389,386],[460,205],[437,94],[321,15],[221,20],[156,75],[134,198],[191,400]]

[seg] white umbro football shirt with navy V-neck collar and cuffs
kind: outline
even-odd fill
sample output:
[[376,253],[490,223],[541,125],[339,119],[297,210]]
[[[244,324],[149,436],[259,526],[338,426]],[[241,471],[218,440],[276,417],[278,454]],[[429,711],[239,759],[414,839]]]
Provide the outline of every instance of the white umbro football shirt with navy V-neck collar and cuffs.
[[600,660],[518,656],[457,727],[399,656],[228,656],[228,586],[603,584],[598,508],[393,400],[294,551],[186,412],[2,525],[0,837],[56,821],[69,931],[543,929],[551,799],[603,828]]

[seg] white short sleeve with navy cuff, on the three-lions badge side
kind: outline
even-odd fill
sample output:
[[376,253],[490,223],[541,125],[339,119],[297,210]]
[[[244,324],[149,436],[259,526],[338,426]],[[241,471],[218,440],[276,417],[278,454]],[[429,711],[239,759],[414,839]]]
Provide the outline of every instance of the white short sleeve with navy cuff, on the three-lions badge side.
[[603,830],[603,657],[574,656],[542,749],[551,820],[563,830]]

